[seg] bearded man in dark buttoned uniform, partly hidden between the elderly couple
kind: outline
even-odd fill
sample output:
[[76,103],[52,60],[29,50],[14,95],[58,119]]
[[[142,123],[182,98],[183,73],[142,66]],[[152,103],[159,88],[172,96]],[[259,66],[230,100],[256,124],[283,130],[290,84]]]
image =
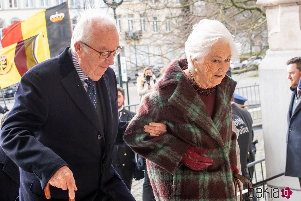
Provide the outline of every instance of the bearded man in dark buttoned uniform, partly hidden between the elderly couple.
[[[117,90],[119,119],[121,121],[130,121],[136,113],[123,108],[125,93],[121,87],[118,87]],[[114,147],[112,165],[121,176],[121,179],[124,181],[125,185],[127,185],[127,188],[131,191],[131,185],[136,167],[135,152],[133,152],[129,146],[121,147],[116,145]]]

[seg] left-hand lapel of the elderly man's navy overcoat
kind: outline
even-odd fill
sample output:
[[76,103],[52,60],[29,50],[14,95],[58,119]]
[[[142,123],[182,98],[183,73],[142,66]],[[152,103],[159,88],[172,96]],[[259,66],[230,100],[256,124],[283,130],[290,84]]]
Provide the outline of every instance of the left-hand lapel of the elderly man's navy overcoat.
[[69,96],[73,99],[80,110],[88,117],[88,119],[92,122],[92,124],[100,132],[100,135],[104,139],[104,132],[101,128],[100,118],[97,115],[97,112],[93,107],[83,84],[80,81],[80,78],[67,51],[68,49],[65,49],[65,51],[59,57],[61,73],[63,76],[65,76],[61,80],[61,83],[66,89]]

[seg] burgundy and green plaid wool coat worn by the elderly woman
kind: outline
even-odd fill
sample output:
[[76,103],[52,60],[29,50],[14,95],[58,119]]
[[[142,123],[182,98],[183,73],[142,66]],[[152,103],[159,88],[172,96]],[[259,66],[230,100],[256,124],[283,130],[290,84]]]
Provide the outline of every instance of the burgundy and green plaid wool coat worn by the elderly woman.
[[[181,70],[186,62],[170,64],[155,91],[144,97],[124,140],[147,159],[156,200],[235,201],[230,166],[236,166],[236,133],[230,101],[236,82],[226,76],[217,85],[211,118]],[[166,124],[167,132],[151,137],[143,128],[149,122]],[[207,149],[204,156],[213,164],[203,171],[187,168],[181,159],[189,146]]]

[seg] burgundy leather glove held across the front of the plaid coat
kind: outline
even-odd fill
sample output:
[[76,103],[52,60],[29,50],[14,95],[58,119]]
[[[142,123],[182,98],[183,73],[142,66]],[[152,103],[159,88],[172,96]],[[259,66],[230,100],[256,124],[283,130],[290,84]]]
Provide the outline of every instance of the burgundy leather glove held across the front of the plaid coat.
[[182,158],[182,163],[195,171],[204,170],[204,168],[212,165],[213,160],[211,158],[202,156],[202,154],[207,153],[206,149],[198,149],[190,146],[185,155]]

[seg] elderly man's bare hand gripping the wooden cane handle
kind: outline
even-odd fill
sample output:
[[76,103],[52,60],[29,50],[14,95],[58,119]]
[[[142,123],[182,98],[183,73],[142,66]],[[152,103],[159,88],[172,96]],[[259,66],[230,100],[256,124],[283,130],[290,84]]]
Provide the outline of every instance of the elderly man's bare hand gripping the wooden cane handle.
[[49,179],[44,189],[45,196],[47,199],[51,198],[49,184],[51,186],[61,188],[64,191],[68,189],[69,200],[73,200],[75,198],[74,191],[77,191],[77,187],[75,185],[73,173],[66,165],[58,169]]

